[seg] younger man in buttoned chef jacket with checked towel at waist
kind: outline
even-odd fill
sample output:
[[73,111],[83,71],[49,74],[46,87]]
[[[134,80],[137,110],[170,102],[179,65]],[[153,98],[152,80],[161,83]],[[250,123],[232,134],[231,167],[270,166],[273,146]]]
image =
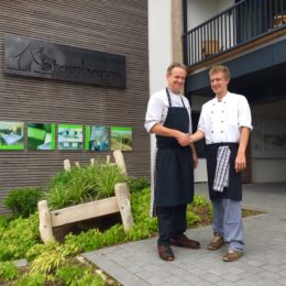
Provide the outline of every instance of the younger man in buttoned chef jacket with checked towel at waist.
[[246,167],[245,150],[252,130],[251,110],[244,96],[228,91],[230,73],[226,66],[209,72],[216,97],[202,106],[198,131],[190,142],[205,136],[209,196],[213,207],[211,251],[224,242],[224,262],[239,260],[244,252],[241,216],[241,172]]

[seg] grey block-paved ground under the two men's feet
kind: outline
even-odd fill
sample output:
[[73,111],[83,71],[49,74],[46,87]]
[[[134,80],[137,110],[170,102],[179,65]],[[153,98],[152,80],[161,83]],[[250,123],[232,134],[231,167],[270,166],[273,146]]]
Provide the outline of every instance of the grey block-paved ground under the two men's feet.
[[[207,185],[196,184],[196,193],[207,195]],[[244,185],[243,207],[265,213],[243,219],[246,250],[237,262],[221,260],[227,246],[207,250],[211,227],[188,230],[201,249],[173,248],[173,262],[158,258],[156,238],[82,255],[125,286],[286,285],[286,183]]]

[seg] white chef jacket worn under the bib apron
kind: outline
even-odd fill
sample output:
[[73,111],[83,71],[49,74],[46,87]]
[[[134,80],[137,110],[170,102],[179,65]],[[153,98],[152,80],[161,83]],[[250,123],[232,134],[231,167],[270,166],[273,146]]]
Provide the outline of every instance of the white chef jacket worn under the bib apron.
[[[184,105],[187,108],[189,114],[189,133],[191,134],[193,133],[191,117],[190,117],[191,110],[190,110],[188,99],[183,95],[174,94],[169,89],[168,91],[169,91],[172,107],[184,107],[182,102],[182,100],[184,100]],[[146,111],[145,124],[144,124],[147,132],[150,132],[151,129],[157,123],[164,125],[167,117],[168,108],[169,108],[169,103],[168,103],[166,89],[162,89],[151,96],[147,105],[147,111]]]

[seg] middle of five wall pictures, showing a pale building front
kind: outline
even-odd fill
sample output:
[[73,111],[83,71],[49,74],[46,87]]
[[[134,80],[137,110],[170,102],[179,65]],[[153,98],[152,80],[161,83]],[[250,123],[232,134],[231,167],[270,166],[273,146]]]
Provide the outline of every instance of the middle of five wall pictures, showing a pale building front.
[[82,150],[82,125],[58,124],[58,150]]

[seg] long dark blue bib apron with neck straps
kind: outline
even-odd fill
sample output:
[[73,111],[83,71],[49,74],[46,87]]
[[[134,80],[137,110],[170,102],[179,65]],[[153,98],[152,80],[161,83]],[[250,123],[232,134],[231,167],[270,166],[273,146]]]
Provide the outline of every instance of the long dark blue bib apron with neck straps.
[[[168,97],[168,113],[164,127],[189,132],[189,114],[184,107],[172,107]],[[180,146],[176,139],[156,135],[154,207],[175,207],[194,199],[194,162],[190,146]]]

